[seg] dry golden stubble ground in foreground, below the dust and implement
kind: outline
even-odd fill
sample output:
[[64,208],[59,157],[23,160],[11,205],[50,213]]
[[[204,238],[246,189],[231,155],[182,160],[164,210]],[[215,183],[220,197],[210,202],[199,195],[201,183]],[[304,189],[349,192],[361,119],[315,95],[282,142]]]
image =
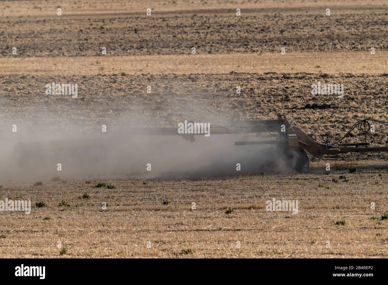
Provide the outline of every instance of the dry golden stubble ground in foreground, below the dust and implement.
[[[47,207],[2,213],[0,257],[60,257],[58,242],[67,249],[62,257],[185,257],[189,248],[192,257],[387,257],[388,222],[379,220],[388,210],[386,161],[331,162],[327,175],[325,163],[308,174],[107,180],[113,190],[95,188],[95,180],[6,183],[2,197]],[[355,173],[344,169],[355,165]],[[90,199],[78,199],[84,193]],[[266,211],[273,198],[298,200],[298,214]],[[70,206],[57,206],[62,200]]]

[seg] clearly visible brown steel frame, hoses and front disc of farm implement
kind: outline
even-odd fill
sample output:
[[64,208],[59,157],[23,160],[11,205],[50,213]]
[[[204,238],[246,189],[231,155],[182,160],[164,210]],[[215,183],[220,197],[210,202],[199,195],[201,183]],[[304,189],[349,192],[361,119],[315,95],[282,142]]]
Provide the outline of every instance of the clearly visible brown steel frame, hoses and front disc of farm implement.
[[[237,116],[230,126],[211,125],[211,135],[224,135],[236,133],[270,133],[277,136],[275,140],[259,140],[235,142],[235,145],[265,145],[277,144],[282,147],[290,165],[297,171],[306,172],[309,161],[306,151],[314,157],[322,155],[338,155],[347,152],[385,152],[388,147],[369,147],[367,142],[367,133],[371,130],[369,121],[388,125],[387,122],[374,119],[363,119],[357,121],[350,130],[340,140],[334,143],[319,143],[310,138],[300,128],[290,123],[284,114],[278,114],[274,120],[240,120]],[[365,142],[361,143],[343,143],[340,142],[348,136],[355,128],[365,135]],[[201,132],[191,134],[180,134],[177,128],[133,128],[131,133],[134,135],[181,135],[185,140],[194,142],[194,135],[203,135]],[[275,134],[276,133],[276,134]]]

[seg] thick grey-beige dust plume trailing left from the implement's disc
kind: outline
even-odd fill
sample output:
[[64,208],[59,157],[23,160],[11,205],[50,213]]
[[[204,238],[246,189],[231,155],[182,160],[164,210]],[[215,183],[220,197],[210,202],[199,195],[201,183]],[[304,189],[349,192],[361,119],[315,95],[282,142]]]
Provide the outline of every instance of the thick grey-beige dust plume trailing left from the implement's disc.
[[[49,125],[50,123],[47,123]],[[128,124],[122,124],[128,126]],[[40,126],[43,126],[40,124]],[[23,125],[19,126],[23,128]],[[182,136],[132,135],[125,128],[85,135],[80,126],[42,127],[2,142],[0,181],[47,181],[100,177],[183,179],[279,171],[281,150],[234,145],[247,134]],[[119,131],[120,130],[120,131]],[[23,132],[22,132],[23,133]],[[96,132],[97,133],[97,132]],[[61,164],[61,171],[58,171]],[[147,171],[151,164],[151,171]],[[241,171],[237,171],[237,164]]]

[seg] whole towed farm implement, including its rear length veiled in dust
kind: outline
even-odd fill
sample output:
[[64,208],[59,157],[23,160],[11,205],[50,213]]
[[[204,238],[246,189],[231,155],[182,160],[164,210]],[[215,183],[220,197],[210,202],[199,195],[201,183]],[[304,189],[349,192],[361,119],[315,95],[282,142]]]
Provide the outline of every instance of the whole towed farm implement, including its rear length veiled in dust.
[[[210,125],[208,123],[189,123],[194,125],[194,131],[187,131],[188,123],[185,121],[184,128],[126,128],[126,138],[121,137],[120,133],[116,133],[105,138],[100,137],[100,139],[23,142],[18,143],[15,150],[21,157],[21,164],[28,166],[28,169],[40,168],[44,165],[57,165],[61,161],[67,161],[67,165],[70,164],[83,169],[90,168],[90,165],[104,168],[108,164],[118,164],[119,161],[124,166],[123,168],[126,169],[126,166],[131,162],[141,161],[141,163],[136,163],[136,165],[143,165],[143,160],[150,161],[155,156],[163,153],[165,153],[165,157],[162,161],[174,159],[167,154],[170,151],[168,148],[171,149],[171,145],[169,146],[168,143],[162,142],[163,140],[152,139],[150,136],[182,136],[189,142],[195,142],[196,136],[205,136],[201,140],[206,141],[210,139],[206,137],[209,135],[235,134],[236,138],[230,136],[232,139],[230,143],[229,139],[221,139],[223,147],[226,146],[225,148],[227,149],[223,149],[222,153],[217,152],[215,154],[219,156],[215,159],[225,162],[220,162],[219,164],[227,163],[229,165],[230,163],[226,161],[230,156],[229,161],[231,161],[231,157],[237,157],[240,161],[246,162],[246,166],[248,166],[249,162],[249,169],[255,169],[259,164],[259,160],[261,161],[262,157],[266,157],[266,159],[273,158],[277,162],[281,161],[282,165],[300,172],[308,171],[309,159],[307,152],[314,157],[321,157],[322,155],[340,155],[348,152],[388,151],[388,146],[372,147],[367,142],[367,135],[371,132],[372,127],[374,128],[374,125],[371,125],[371,123],[388,126],[387,122],[375,119],[357,121],[342,138],[332,143],[328,141],[325,143],[315,141],[298,126],[291,123],[284,114],[278,114],[277,119],[270,120],[241,120],[237,116],[230,119],[226,126]],[[363,142],[341,143],[355,129],[360,132]],[[146,135],[148,136],[147,139],[142,137]],[[137,145],[132,142],[134,137],[137,137],[137,142],[140,141]],[[254,137],[254,140],[252,137]],[[206,143],[204,145],[206,147]],[[253,145],[264,145],[264,147],[270,150],[260,153],[262,155],[260,157],[259,151],[262,151],[262,148],[260,148],[261,150],[255,149]],[[185,149],[185,147],[183,148]],[[129,152],[129,150],[132,152]],[[112,154],[115,155],[116,160],[112,158]],[[175,159],[179,160],[179,157]],[[248,167],[245,169],[248,169]],[[254,171],[261,172],[257,169]]]

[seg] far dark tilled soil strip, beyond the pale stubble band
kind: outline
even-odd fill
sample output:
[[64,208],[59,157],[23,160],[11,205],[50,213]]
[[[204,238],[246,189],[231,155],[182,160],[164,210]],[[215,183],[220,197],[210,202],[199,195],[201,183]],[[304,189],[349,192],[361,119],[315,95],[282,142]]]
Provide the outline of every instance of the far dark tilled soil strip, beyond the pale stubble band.
[[[387,8],[388,9],[388,8]],[[18,19],[0,22],[0,54],[166,55],[386,50],[388,13]]]

